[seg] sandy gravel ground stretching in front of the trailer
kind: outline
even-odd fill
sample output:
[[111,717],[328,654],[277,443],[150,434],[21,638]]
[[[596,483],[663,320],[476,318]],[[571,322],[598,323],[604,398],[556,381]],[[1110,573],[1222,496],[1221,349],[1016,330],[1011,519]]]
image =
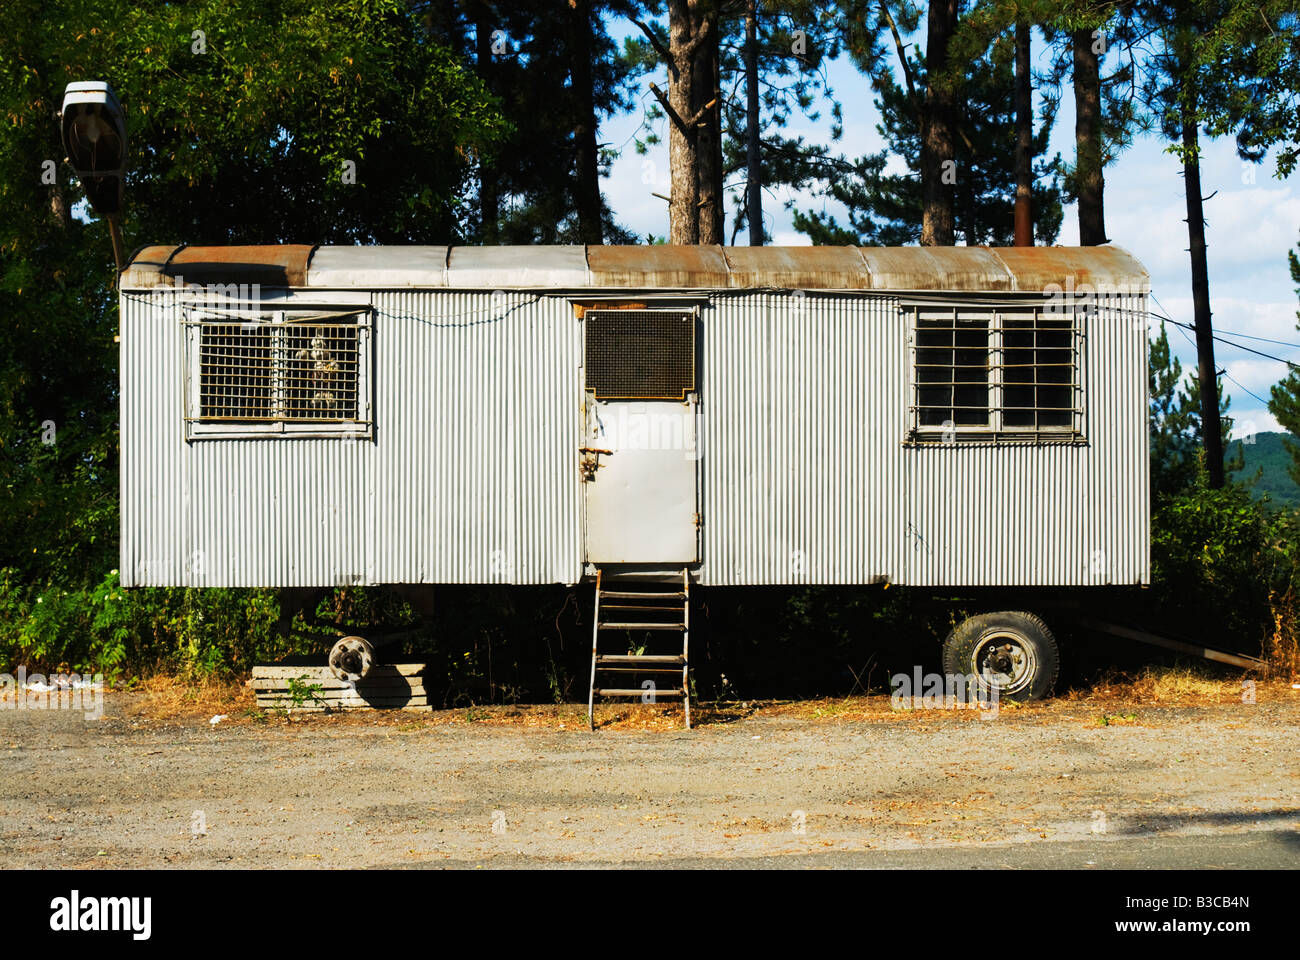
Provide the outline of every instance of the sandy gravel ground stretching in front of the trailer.
[[595,734],[573,706],[213,727],[133,696],[0,710],[0,866],[1300,862],[1300,692]]

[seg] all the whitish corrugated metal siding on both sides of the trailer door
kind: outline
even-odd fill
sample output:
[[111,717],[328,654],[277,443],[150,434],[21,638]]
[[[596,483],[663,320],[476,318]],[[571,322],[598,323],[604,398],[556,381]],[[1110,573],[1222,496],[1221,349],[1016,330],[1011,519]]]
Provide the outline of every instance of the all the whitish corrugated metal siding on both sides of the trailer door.
[[[578,579],[582,351],[567,299],[408,290],[373,304],[373,441],[186,444],[179,312],[124,291],[124,584]],[[1087,446],[910,447],[896,299],[714,297],[701,581],[1147,581],[1145,303],[1102,307]]]

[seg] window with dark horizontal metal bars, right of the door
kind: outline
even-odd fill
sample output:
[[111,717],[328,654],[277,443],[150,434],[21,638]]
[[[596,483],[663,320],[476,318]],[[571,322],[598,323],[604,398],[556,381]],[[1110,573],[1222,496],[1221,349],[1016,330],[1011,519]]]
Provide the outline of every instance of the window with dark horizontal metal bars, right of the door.
[[1082,436],[1079,315],[918,307],[913,324],[914,438]]

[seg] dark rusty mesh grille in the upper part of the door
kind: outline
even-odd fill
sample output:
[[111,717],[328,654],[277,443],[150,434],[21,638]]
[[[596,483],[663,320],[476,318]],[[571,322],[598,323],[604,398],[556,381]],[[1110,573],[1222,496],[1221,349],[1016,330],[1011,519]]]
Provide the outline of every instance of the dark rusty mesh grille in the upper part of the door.
[[696,389],[693,311],[589,310],[586,389],[597,399],[685,399]]

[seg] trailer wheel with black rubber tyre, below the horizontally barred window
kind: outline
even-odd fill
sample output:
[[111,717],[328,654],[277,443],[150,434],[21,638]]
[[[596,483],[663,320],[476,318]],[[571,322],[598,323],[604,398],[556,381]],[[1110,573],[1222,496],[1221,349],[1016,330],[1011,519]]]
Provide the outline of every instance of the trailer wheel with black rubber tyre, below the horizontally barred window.
[[1061,653],[1048,624],[1034,614],[1002,611],[971,617],[944,641],[944,671],[974,674],[984,696],[1043,700],[1052,695]]

